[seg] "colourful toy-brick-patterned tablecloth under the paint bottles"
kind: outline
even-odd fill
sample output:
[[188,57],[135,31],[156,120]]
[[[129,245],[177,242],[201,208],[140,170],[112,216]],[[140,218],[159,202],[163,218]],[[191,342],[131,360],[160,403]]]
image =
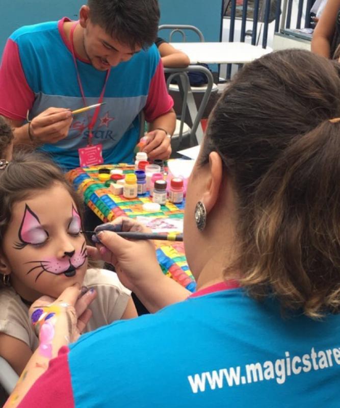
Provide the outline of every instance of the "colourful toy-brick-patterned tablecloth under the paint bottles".
[[[66,173],[66,178],[74,188],[82,194],[88,207],[103,221],[112,221],[119,216],[136,218],[156,217],[182,219],[184,215],[184,202],[173,204],[167,201],[157,213],[149,213],[143,210],[145,202],[152,202],[149,193],[139,195],[137,198],[128,199],[122,195],[114,195],[110,190],[110,182],[101,182],[98,179],[100,168],[122,169],[123,174],[133,173],[134,165],[125,163],[116,165],[101,165],[91,167],[78,167]],[[165,274],[190,290],[195,291],[196,283],[189,270],[184,254],[182,242],[154,241],[156,245],[157,259]]]

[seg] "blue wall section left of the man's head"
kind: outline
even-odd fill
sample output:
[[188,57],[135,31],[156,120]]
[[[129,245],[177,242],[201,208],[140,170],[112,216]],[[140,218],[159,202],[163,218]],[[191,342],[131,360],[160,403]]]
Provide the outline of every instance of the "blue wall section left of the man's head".
[[86,0],[0,0],[0,56],[7,38],[22,25],[59,20],[67,16],[77,19]]

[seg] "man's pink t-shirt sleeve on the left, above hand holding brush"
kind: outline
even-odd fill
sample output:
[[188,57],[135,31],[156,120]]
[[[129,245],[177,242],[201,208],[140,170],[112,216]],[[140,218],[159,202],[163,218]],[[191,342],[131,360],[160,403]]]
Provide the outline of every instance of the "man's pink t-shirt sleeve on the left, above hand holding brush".
[[18,45],[7,40],[0,65],[0,114],[24,120],[32,108],[34,93],[22,69]]

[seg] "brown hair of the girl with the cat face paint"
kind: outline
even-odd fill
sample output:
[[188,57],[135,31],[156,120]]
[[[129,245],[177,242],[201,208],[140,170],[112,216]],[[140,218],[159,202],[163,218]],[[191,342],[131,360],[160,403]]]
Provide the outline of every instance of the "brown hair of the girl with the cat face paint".
[[15,152],[6,169],[0,170],[0,242],[11,221],[14,203],[55,184],[65,187],[82,218],[83,202],[56,164],[37,152]]

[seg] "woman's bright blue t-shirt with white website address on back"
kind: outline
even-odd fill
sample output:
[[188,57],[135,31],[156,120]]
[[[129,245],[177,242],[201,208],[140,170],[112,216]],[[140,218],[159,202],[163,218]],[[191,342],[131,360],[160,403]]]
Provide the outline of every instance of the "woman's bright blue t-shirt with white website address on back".
[[76,408],[338,408],[339,333],[340,315],[282,318],[273,299],[215,292],[82,336],[19,406],[54,408],[42,395],[63,387]]

